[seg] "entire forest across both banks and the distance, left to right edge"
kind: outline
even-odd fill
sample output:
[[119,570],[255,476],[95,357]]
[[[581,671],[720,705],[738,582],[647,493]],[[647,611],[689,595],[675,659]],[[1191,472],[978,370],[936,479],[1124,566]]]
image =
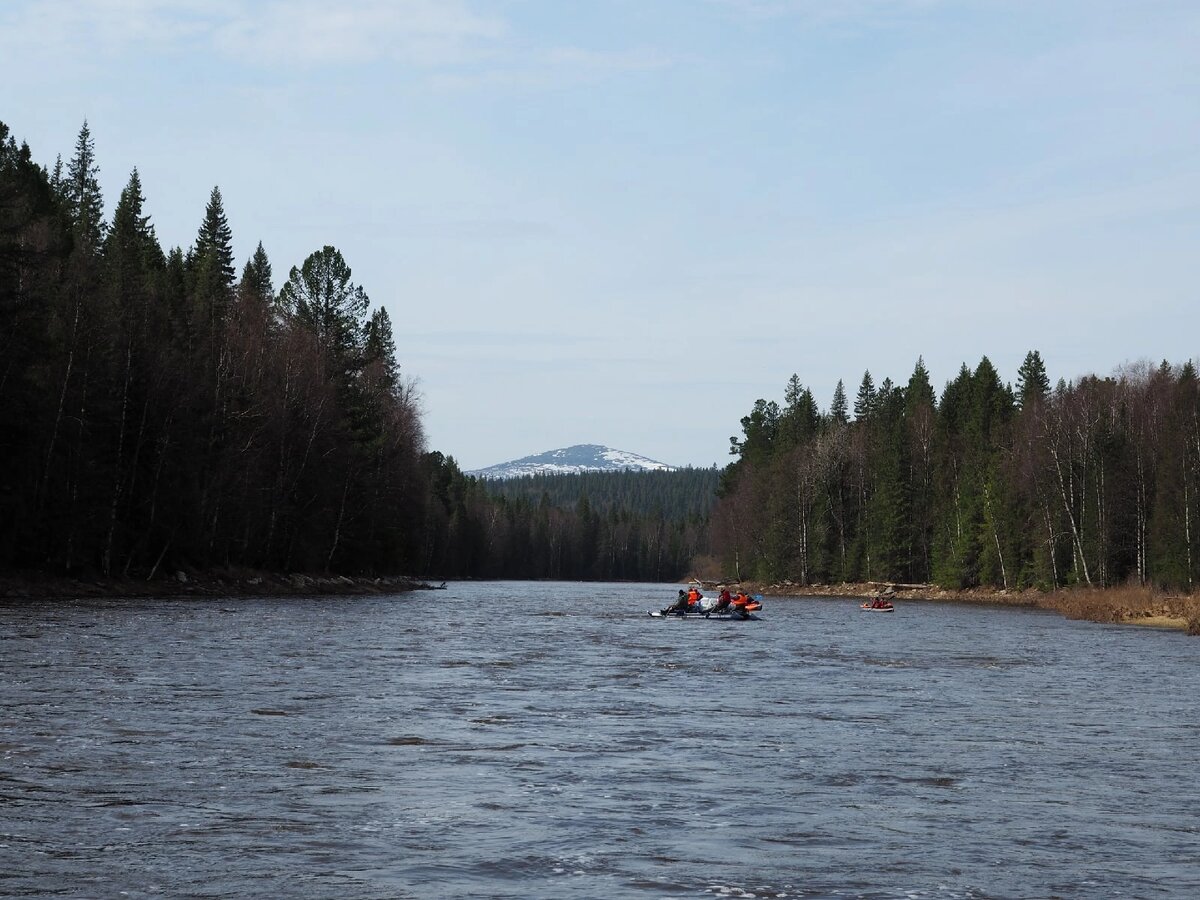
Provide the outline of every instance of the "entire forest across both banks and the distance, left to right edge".
[[426,448],[392,322],[337,248],[276,284],[262,242],[238,271],[217,188],[186,250],[160,245],[137,170],[103,210],[86,124],[46,167],[0,122],[0,569],[1198,576],[1190,362],[1051,386],[1031,352],[1013,388],[984,358],[937,396],[918,360],[904,385],[865,373],[852,402],[839,383],[828,412],[793,376],[720,473],[490,484]]

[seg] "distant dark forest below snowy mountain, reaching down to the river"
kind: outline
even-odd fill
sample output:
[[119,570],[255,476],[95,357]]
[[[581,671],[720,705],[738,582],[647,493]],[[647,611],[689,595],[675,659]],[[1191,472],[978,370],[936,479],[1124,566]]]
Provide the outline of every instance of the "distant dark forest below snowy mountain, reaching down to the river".
[[[695,496],[706,479],[715,480],[715,472],[605,473],[595,481],[593,473],[562,475],[550,478],[538,496],[520,485],[509,496],[504,482],[464,475],[452,458],[431,454],[430,461],[428,506],[434,512],[425,571],[479,578],[676,581],[708,548],[708,522],[701,512],[680,499],[668,515],[649,498],[655,491],[664,498],[676,492]],[[665,480],[650,488],[646,474]],[[641,487],[623,487],[626,476]],[[557,479],[562,481],[548,490]],[[607,486],[598,503],[584,490],[593,485]],[[703,504],[702,498],[696,502]]]

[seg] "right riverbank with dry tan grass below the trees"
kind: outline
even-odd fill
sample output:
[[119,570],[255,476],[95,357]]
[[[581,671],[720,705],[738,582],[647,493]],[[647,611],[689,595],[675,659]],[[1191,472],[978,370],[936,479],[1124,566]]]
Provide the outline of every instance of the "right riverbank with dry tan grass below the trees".
[[[744,583],[745,584],[745,583]],[[1151,588],[1079,588],[1054,592],[967,588],[946,590],[936,584],[860,582],[842,584],[755,584],[754,593],[773,596],[871,598],[883,592],[894,602],[959,602],[1033,606],[1069,619],[1181,629],[1200,635],[1200,596],[1166,594]]]

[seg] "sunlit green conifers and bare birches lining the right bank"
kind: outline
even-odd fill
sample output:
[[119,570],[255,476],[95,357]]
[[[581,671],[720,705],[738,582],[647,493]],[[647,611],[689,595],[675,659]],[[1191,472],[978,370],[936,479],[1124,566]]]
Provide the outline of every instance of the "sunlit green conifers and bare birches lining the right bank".
[[984,358],[937,397],[863,376],[853,420],[796,376],[731,438],[713,542],[763,580],[1150,584],[1200,566],[1200,382],[1192,362],[1051,389],[1037,352],[1015,389]]

